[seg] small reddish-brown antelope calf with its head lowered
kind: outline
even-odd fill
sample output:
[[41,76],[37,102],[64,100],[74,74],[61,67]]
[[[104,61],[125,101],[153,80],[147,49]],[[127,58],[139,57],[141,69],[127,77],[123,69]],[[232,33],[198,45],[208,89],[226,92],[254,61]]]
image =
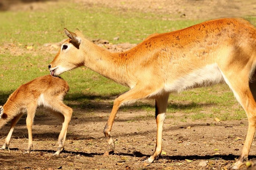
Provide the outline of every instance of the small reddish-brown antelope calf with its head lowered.
[[24,113],[27,113],[26,126],[28,128],[28,149],[24,154],[29,154],[32,143],[32,124],[37,106],[50,110],[62,122],[62,129],[58,137],[58,148],[54,155],[60,155],[64,148],[68,125],[72,109],[63,103],[63,97],[69,90],[66,81],[59,77],[45,75],[38,77],[15,90],[4,106],[0,106],[0,128],[11,121],[11,129],[3,147],[6,149],[10,143],[14,127]]

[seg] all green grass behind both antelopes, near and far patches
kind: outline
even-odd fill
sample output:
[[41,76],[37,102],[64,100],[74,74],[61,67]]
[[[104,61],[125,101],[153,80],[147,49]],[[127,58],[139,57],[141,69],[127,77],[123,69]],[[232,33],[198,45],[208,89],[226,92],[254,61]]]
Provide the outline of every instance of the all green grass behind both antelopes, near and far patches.
[[[164,15],[168,18],[168,15]],[[173,16],[170,16],[173,17]],[[202,22],[201,20],[175,19],[166,21],[163,15],[132,11],[113,11],[110,8],[86,8],[70,3],[58,4],[47,10],[31,12],[0,12],[0,104],[4,104],[19,85],[35,77],[49,74],[47,66],[54,54],[42,51],[45,43],[59,42],[66,38],[63,28],[79,28],[88,39],[103,38],[111,43],[139,43],[152,33],[170,32]],[[256,25],[256,17],[245,17]],[[114,41],[114,37],[119,37]],[[11,44],[6,49],[6,44]],[[12,49],[15,50],[12,52]],[[32,46],[32,52],[26,49]],[[115,96],[128,90],[94,73],[78,68],[66,72],[62,77],[68,81],[70,92],[65,102],[70,106],[85,108],[92,101],[107,100],[110,104]],[[171,94],[167,118],[197,120],[218,117],[221,120],[246,118],[227,85],[193,89],[181,94]],[[152,117],[154,106],[151,102],[138,102],[122,108],[142,109]],[[142,117],[138,117],[142,118]]]

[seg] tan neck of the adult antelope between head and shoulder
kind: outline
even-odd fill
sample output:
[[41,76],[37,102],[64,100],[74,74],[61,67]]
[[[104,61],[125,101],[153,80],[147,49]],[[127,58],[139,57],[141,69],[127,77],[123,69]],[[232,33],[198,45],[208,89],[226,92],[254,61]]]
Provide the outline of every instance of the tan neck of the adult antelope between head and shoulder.
[[83,51],[84,65],[119,84],[131,86],[123,53],[111,53],[93,43]]

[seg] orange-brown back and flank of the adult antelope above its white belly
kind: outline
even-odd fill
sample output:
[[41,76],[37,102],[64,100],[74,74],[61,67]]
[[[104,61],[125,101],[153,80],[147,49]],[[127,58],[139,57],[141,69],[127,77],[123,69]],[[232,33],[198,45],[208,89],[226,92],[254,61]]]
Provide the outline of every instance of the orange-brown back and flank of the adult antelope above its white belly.
[[[133,56],[129,62],[136,63],[134,74],[139,80],[152,82],[157,77],[159,82],[171,83],[213,64],[226,69],[230,63],[256,61],[256,28],[242,18],[210,20],[153,34],[127,55]],[[150,76],[145,80],[144,75]]]

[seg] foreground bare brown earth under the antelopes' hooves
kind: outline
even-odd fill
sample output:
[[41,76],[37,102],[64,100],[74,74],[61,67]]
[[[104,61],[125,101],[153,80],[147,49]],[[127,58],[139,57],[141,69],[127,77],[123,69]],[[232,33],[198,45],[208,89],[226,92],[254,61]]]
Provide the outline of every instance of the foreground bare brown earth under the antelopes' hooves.
[[[111,104],[109,104],[111,106]],[[27,147],[27,130],[23,117],[13,134],[10,151],[0,151],[0,167],[4,169],[224,169],[238,158],[247,121],[188,121],[166,119],[163,135],[163,152],[152,164],[145,160],[153,153],[156,140],[156,124],[145,111],[120,111],[112,134],[115,152],[104,140],[103,127],[110,107],[95,112],[74,109],[65,150],[53,156],[61,124],[57,118],[39,109],[33,126],[33,151],[22,155]],[[136,116],[145,116],[134,120]],[[10,124],[8,124],[10,125]],[[8,132],[2,129],[0,143]],[[255,155],[253,144],[251,155]],[[204,166],[199,163],[205,161]]]

